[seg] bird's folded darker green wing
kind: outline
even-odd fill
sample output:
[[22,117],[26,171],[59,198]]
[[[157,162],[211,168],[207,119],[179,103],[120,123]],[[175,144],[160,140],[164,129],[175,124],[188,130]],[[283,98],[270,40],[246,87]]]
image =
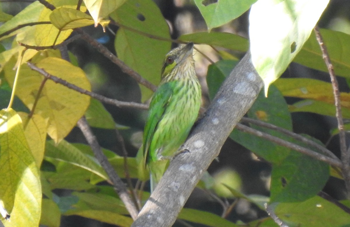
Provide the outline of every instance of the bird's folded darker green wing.
[[172,82],[162,84],[153,94],[151,103],[149,104],[148,118],[144,131],[144,157],[145,166],[148,160],[149,146],[152,142],[154,132],[159,121],[165,113],[170,98],[173,95]]

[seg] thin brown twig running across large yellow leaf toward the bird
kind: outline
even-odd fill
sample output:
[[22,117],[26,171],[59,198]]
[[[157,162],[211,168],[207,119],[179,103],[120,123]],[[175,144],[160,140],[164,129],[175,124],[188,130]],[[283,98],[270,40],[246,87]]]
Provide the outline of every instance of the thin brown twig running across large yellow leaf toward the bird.
[[114,106],[117,106],[117,107],[130,107],[130,108],[138,108],[138,109],[148,109],[148,105],[145,105],[145,104],[141,104],[141,103],[134,103],[134,102],[123,102],[123,101],[119,101],[119,100],[116,100],[116,99],[111,99],[111,98],[107,98],[107,97],[104,97],[100,94],[97,94],[97,93],[94,93],[94,92],[91,92],[91,91],[87,91],[83,88],[80,88],[74,84],[71,84],[65,80],[62,80],[61,78],[58,78],[57,76],[54,76],[54,75],[51,75],[49,74],[47,71],[45,71],[44,69],[41,69],[41,68],[38,68],[36,65],[34,65],[33,63],[31,62],[27,62],[27,65],[39,72],[40,74],[42,74],[44,77],[47,77],[49,80],[52,80],[54,81],[55,83],[58,83],[58,84],[62,84],[63,86],[66,86],[67,88],[70,88],[72,90],[75,90],[79,93],[82,93],[82,94],[86,94],[92,98],[95,98],[97,100],[100,100],[101,102],[103,103],[107,103],[107,104],[111,104],[111,105],[114,105]]

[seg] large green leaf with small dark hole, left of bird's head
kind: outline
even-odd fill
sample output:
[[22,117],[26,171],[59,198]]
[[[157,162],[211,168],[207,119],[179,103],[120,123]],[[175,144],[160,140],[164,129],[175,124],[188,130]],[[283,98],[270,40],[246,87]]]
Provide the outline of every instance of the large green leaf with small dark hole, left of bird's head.
[[[168,24],[157,5],[152,0],[128,0],[110,16],[122,25],[114,42],[118,57],[151,83],[159,84],[171,39]],[[156,40],[152,36],[169,41]],[[142,101],[152,93],[141,86]]]

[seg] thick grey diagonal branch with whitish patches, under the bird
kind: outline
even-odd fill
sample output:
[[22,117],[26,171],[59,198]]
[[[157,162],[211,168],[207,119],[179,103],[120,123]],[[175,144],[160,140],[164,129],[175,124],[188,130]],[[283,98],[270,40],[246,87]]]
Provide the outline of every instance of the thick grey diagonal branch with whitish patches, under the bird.
[[183,153],[170,165],[132,227],[172,226],[181,208],[237,122],[262,88],[247,53],[218,91],[204,118],[189,136]]

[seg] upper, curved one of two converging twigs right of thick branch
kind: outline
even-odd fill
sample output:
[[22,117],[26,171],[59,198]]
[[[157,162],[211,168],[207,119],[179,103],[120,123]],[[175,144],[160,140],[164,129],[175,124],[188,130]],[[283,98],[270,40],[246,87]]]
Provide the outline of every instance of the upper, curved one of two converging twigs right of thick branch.
[[[339,160],[339,158],[334,154],[332,153],[330,150],[328,150],[327,148],[321,146],[320,144],[308,139],[308,138],[305,138],[299,134],[296,134],[296,133],[293,133],[292,131],[289,131],[287,129],[284,129],[284,128],[281,128],[281,127],[278,127],[278,126],[275,126],[274,124],[270,124],[270,123],[267,123],[267,122],[264,122],[264,121],[259,121],[259,120],[255,120],[255,119],[251,119],[251,118],[246,118],[246,117],[243,117],[241,119],[241,121],[243,122],[248,122],[248,123],[252,123],[252,124],[256,124],[258,126],[261,126],[261,127],[265,127],[265,128],[269,128],[269,129],[273,129],[273,130],[276,130],[276,131],[279,131],[280,133],[283,133],[287,136],[290,136],[294,139],[297,139],[303,143],[306,143],[307,145],[310,145],[310,146],[313,146],[315,147],[317,150],[323,152],[325,155],[331,157],[331,158],[334,158],[336,160]],[[340,161],[340,160],[339,160]]]

